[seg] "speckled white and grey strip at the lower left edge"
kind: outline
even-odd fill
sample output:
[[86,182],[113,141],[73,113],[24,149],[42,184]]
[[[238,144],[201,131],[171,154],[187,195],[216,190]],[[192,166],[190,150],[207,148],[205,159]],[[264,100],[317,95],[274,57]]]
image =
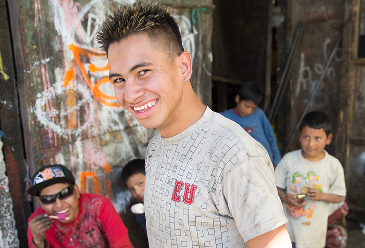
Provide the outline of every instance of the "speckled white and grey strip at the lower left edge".
[[[0,148],[3,143],[0,140]],[[19,248],[18,233],[15,227],[13,201],[9,192],[9,179],[6,176],[4,155],[0,152],[0,248]]]

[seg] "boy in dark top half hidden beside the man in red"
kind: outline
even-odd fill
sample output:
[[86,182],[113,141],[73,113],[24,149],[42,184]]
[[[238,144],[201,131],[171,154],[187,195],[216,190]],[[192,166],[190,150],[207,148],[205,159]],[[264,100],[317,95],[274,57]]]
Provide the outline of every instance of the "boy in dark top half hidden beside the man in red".
[[[132,193],[132,196],[138,201],[143,203],[143,197],[145,194],[145,160],[144,159],[133,159],[128,162],[122,170],[120,176],[122,183]],[[135,205],[133,205],[135,206]],[[142,212],[142,211],[141,211]],[[134,213],[138,224],[147,234],[146,229],[146,217],[145,213]]]

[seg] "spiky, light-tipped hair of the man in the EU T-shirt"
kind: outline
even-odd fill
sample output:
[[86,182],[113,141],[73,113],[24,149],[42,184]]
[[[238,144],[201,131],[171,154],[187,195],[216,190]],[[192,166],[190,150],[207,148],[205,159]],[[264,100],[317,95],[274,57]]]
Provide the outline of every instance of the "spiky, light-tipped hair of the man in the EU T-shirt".
[[161,44],[170,57],[183,53],[183,42],[179,26],[167,6],[161,3],[134,2],[114,11],[101,25],[96,37],[101,49],[108,47],[128,35],[146,32]]

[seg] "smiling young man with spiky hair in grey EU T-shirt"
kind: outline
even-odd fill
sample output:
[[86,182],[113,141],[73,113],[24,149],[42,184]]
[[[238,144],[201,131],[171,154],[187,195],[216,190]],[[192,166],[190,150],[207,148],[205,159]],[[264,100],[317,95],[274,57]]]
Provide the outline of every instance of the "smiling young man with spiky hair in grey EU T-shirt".
[[159,132],[146,153],[149,246],[291,247],[267,152],[199,100],[167,7],[124,5],[98,39],[118,103]]

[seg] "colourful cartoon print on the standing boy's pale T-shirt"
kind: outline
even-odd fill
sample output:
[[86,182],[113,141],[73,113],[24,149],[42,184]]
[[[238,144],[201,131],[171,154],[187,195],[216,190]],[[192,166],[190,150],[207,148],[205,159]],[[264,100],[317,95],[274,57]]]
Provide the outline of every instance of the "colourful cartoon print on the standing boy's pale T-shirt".
[[[292,174],[292,184],[289,184],[288,187],[288,194],[292,195],[300,195],[300,194],[307,194],[307,192],[310,189],[317,189],[319,191],[322,191],[321,187],[323,185],[319,185],[320,176],[317,175],[314,171],[309,171],[306,174],[306,177],[304,177],[305,183],[303,182],[303,174],[299,171],[294,172]],[[293,205],[287,204],[286,205],[286,211],[289,217],[293,219],[299,219],[301,217],[306,217],[306,221],[302,222],[303,225],[310,226],[310,221],[313,217],[314,209],[316,207],[316,203],[313,200],[306,199],[307,204],[304,207],[298,208]],[[307,208],[305,208],[308,206]]]

